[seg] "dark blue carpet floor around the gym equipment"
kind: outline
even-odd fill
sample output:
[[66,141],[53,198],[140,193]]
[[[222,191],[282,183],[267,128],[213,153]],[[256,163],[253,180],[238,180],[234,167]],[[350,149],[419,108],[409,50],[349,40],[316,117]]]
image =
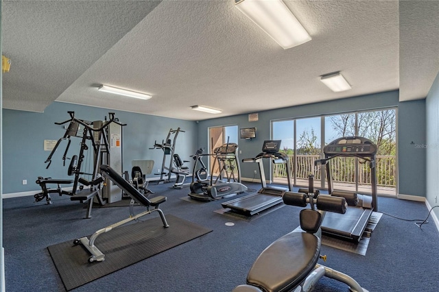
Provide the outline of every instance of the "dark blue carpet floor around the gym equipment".
[[[245,221],[215,212],[221,202],[192,204],[180,199],[189,187],[150,185],[154,195],[166,195],[161,205],[174,215],[213,230],[139,263],[110,273],[73,291],[231,291],[244,284],[255,258],[272,241],[298,226],[300,208],[284,206],[257,220]],[[249,185],[258,189],[257,184]],[[95,208],[91,219],[69,197],[54,196],[54,204],[34,203],[33,197],[3,200],[3,246],[6,291],[65,291],[47,250],[49,245],[93,234],[128,217],[128,207]],[[379,197],[382,215],[372,232],[365,256],[322,245],[324,265],[352,276],[368,291],[438,291],[439,232],[427,207]],[[141,208],[141,207],[136,207]],[[232,224],[234,223],[233,226]],[[316,291],[347,291],[345,284],[322,278]]]

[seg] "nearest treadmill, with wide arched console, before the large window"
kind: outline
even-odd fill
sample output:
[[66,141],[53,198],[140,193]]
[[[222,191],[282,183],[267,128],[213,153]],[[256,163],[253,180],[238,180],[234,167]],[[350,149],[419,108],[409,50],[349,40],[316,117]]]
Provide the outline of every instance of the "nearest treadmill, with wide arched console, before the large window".
[[[328,212],[322,223],[322,232],[348,241],[359,242],[366,230],[370,215],[378,210],[377,206],[377,170],[375,155],[377,145],[368,138],[360,136],[342,137],[332,141],[323,149],[324,159],[318,160],[326,164],[328,192],[330,195],[345,197],[348,202],[345,214]],[[331,159],[336,157],[355,157],[368,162],[370,167],[371,195],[360,195],[348,191],[333,191],[331,175]]]

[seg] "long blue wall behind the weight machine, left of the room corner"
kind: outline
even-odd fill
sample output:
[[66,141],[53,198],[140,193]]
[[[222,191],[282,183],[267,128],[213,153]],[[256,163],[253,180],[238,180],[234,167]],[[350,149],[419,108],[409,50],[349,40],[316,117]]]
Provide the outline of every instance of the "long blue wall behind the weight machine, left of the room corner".
[[[197,124],[193,121],[60,102],[52,103],[44,113],[3,109],[3,194],[38,190],[39,186],[35,184],[38,176],[69,178],[69,161],[65,167],[62,166],[62,154],[67,143],[58,147],[49,169],[45,168],[45,160],[50,151],[43,149],[45,140],[58,140],[64,135],[63,126],[54,123],[70,119],[67,111],[74,111],[75,117],[88,121],[104,120],[108,112],[115,112],[115,117],[127,124],[123,127],[123,170],[129,172],[131,160],[137,159],[154,160],[153,173],[161,168],[163,151],[148,148],[153,147],[154,141],[162,143],[169,129],[180,127],[185,131],[178,135],[176,141],[176,153],[182,159],[189,160],[197,147]],[[72,137],[71,141],[68,157],[79,152],[80,138]],[[153,176],[157,175],[149,175]],[[22,180],[27,180],[27,185],[23,185]]]

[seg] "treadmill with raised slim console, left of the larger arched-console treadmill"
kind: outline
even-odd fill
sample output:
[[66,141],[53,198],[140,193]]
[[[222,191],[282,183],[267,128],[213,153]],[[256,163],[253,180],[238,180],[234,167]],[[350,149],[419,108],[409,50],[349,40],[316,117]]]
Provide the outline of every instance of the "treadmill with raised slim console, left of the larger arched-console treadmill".
[[[263,210],[283,204],[282,196],[286,191],[292,191],[291,169],[288,163],[288,156],[284,153],[279,153],[281,148],[281,140],[267,140],[264,141],[262,152],[254,158],[245,158],[244,163],[257,162],[259,165],[259,175],[261,176],[262,188],[257,192],[244,197],[239,197],[228,202],[222,203],[223,208],[230,208],[233,212],[241,215],[252,216]],[[283,163],[287,169],[288,188],[278,186],[267,186],[265,180],[265,171],[263,169],[263,159],[272,159],[273,163]]]

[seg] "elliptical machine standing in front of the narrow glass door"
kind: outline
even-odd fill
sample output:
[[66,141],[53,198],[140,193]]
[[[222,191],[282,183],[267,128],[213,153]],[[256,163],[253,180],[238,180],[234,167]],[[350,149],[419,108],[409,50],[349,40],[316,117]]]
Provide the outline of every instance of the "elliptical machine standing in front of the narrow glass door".
[[[211,155],[214,156],[215,160],[211,168],[210,180],[207,180],[206,167],[204,162],[202,162],[202,156]],[[213,201],[247,191],[247,186],[241,184],[241,169],[239,167],[238,145],[236,143],[225,143],[215,148],[213,154],[202,154],[202,149],[199,149],[194,159],[193,174],[195,175],[192,176],[192,180],[195,177],[198,180],[191,182],[191,193],[189,193],[191,199]],[[195,171],[198,162],[200,162],[202,167],[198,169],[199,171]],[[217,165],[219,174],[214,179],[213,172]]]

